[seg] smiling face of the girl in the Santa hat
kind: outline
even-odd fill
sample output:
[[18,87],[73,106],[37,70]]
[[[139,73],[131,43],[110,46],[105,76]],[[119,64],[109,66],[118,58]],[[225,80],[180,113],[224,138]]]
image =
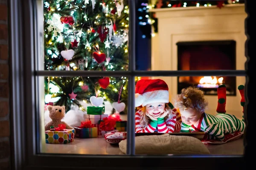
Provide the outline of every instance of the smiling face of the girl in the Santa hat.
[[165,103],[149,103],[146,105],[146,110],[149,115],[158,118],[164,111]]

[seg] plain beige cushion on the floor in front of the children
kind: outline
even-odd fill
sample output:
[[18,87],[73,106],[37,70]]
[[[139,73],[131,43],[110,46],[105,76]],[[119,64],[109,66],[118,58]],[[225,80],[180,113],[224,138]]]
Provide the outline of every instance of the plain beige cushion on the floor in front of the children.
[[[126,154],[127,140],[119,142],[120,150]],[[161,154],[210,154],[207,147],[195,137],[163,135],[147,135],[135,137],[135,153],[147,155]]]

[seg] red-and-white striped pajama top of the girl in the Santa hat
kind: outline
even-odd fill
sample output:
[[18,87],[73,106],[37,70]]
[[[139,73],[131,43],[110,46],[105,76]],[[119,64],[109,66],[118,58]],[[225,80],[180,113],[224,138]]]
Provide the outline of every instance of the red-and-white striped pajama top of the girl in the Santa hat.
[[173,116],[170,115],[165,122],[163,122],[162,124],[158,124],[157,127],[152,127],[150,124],[148,124],[146,127],[143,128],[140,125],[141,113],[142,113],[142,109],[140,109],[135,113],[135,132],[136,133],[153,133],[153,132],[173,133],[173,132],[180,131],[180,128],[181,128],[180,122],[176,121],[176,115],[180,116],[180,113],[175,108],[172,109]]

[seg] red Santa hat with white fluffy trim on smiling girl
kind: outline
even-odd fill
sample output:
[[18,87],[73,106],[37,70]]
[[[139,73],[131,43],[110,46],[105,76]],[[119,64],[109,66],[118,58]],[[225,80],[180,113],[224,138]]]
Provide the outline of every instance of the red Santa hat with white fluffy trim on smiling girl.
[[161,79],[141,79],[135,88],[135,107],[149,103],[169,103],[169,88]]

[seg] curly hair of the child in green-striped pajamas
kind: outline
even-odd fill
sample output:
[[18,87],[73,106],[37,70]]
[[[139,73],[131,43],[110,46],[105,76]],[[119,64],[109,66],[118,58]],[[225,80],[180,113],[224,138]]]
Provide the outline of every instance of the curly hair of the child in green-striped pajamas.
[[175,107],[183,111],[193,109],[203,113],[208,105],[204,98],[204,92],[194,86],[183,88],[174,100]]

